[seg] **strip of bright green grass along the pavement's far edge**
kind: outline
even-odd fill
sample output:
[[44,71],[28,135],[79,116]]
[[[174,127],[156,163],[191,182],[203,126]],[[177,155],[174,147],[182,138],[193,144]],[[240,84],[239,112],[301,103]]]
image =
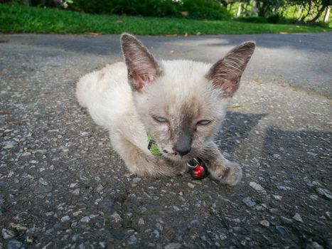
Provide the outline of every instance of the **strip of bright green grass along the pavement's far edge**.
[[2,33],[122,33],[141,35],[325,32],[332,28],[290,24],[198,21],[185,18],[92,15],[60,9],[0,4]]

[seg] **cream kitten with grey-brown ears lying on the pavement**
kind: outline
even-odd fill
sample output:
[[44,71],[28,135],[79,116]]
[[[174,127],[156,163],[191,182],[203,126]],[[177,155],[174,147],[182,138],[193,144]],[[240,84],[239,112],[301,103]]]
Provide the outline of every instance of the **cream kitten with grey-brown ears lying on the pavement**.
[[[239,87],[255,42],[248,41],[213,65],[192,60],[157,61],[137,38],[121,36],[124,62],[89,73],[76,96],[109,132],[112,147],[138,176],[175,176],[200,158],[210,177],[234,186],[239,164],[213,142],[227,103]],[[154,139],[159,154],[151,153]],[[151,146],[151,144],[150,144]]]

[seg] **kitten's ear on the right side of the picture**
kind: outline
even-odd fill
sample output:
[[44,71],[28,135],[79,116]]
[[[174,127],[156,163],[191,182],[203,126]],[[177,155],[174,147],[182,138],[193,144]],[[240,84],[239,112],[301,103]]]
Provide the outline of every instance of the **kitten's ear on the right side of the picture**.
[[247,41],[240,44],[218,60],[210,68],[206,78],[222,88],[225,97],[232,97],[239,87],[241,75],[254,51],[255,42]]

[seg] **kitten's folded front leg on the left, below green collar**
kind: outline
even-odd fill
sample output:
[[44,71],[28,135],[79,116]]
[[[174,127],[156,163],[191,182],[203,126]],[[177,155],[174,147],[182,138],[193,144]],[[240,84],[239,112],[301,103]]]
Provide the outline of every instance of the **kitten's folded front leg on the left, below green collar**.
[[177,176],[186,170],[181,163],[166,160],[164,157],[147,156],[121,134],[112,134],[111,142],[129,171],[138,176]]

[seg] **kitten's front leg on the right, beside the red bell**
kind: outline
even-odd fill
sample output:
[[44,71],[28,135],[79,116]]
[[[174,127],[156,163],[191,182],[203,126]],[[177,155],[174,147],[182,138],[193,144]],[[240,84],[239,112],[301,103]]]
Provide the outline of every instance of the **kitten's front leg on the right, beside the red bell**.
[[225,159],[215,143],[211,142],[205,147],[202,159],[205,161],[210,176],[220,183],[234,186],[241,181],[242,169],[240,165]]

